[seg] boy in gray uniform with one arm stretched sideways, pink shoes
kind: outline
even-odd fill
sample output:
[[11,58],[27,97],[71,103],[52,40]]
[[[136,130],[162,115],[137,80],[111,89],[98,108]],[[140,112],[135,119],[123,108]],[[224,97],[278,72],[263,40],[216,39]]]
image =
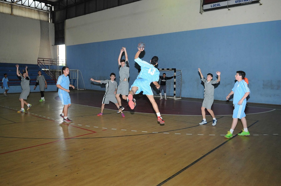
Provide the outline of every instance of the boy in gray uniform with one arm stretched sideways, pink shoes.
[[[115,103],[116,107],[119,108],[119,104],[117,103],[117,100],[115,97],[115,94],[117,91],[117,82],[114,79],[115,79],[114,73],[110,74],[110,79],[106,79],[106,80],[95,80],[93,78],[90,79],[93,82],[106,84],[106,93],[104,94],[102,102],[101,102],[101,112],[99,114],[97,114],[97,116],[103,115],[104,105],[109,104],[110,101],[112,103]],[[123,114],[122,111],[121,111],[121,116],[125,117],[125,115]]]

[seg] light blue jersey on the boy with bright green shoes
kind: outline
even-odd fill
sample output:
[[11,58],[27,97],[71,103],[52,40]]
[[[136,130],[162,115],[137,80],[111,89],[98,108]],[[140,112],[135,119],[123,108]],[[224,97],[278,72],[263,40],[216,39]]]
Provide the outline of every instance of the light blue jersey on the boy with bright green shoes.
[[[246,92],[250,92],[250,89],[248,88],[248,84],[243,80],[240,82],[236,82],[234,84],[234,87],[232,88],[232,91],[234,92],[233,95],[233,104],[238,104],[238,102],[243,98]],[[242,105],[246,105],[247,99],[243,100]]]

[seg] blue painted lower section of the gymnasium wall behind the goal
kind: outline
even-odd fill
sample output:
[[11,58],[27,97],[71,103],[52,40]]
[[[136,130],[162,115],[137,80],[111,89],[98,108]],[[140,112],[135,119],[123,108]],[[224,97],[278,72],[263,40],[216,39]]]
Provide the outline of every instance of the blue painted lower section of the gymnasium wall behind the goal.
[[[130,62],[131,85],[139,66],[134,62],[137,44],[145,43],[143,60],[159,57],[158,68],[182,70],[182,97],[203,98],[198,68],[204,76],[221,72],[214,99],[225,100],[234,85],[237,70],[246,72],[251,90],[248,102],[281,104],[281,21],[267,21],[234,26],[182,31],[113,41],[70,45],[67,65],[82,72],[86,89],[104,90],[90,78],[109,79],[111,72],[119,81],[117,59],[122,46]],[[123,56],[124,59],[124,56]]]

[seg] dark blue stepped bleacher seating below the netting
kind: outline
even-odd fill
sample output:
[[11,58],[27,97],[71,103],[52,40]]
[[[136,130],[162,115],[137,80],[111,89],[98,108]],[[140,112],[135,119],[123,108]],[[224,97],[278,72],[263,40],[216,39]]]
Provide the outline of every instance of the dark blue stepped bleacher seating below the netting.
[[[36,78],[38,76],[37,72],[38,70],[41,70],[42,75],[44,75],[47,84],[56,84],[56,82],[48,76],[37,64],[18,64],[19,65],[19,70],[22,74],[22,70],[25,70],[25,66],[27,66],[28,70],[28,75],[30,77],[30,85],[35,85],[36,83]],[[0,77],[1,77],[1,82],[2,83],[2,78],[4,77],[4,74],[7,74],[7,78],[9,79],[9,85],[20,85],[21,80],[18,79],[17,77],[17,68],[16,68],[16,63],[0,63]]]

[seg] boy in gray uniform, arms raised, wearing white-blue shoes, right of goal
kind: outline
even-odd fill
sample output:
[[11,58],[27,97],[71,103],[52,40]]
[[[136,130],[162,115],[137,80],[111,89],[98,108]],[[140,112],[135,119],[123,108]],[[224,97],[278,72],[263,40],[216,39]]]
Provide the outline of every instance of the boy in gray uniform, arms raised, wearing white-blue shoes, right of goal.
[[214,116],[214,112],[211,110],[211,107],[213,105],[214,102],[214,85],[212,84],[216,84],[219,83],[220,81],[220,72],[217,71],[216,74],[218,75],[218,79],[217,80],[212,80],[213,79],[213,74],[207,74],[207,79],[204,78],[204,76],[201,73],[201,70],[198,68],[198,71],[200,73],[201,76],[201,81],[204,82],[204,99],[202,102],[202,106],[201,106],[201,112],[202,112],[202,117],[203,120],[201,123],[199,123],[199,125],[203,125],[206,124],[206,112],[205,112],[205,108],[207,108],[207,111],[210,113],[210,115],[213,117],[213,124],[212,126],[215,126],[217,124],[217,119]]

